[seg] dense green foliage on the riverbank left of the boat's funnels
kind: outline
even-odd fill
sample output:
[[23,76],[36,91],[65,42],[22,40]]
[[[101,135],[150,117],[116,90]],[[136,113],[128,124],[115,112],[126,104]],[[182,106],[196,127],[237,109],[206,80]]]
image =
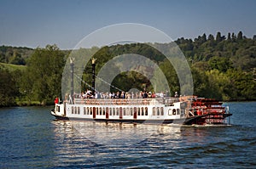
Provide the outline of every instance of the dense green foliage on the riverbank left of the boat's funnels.
[[65,54],[55,45],[36,48],[26,59],[26,69],[1,70],[0,106],[12,105],[20,101],[32,104],[52,103],[61,95],[61,73]]

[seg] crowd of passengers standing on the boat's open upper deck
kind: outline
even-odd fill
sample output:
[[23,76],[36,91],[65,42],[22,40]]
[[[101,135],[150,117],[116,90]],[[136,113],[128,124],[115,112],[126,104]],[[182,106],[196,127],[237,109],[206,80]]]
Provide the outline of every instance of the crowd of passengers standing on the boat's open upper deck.
[[[99,93],[96,92],[94,95],[90,90],[86,92],[80,93],[80,99],[151,99],[151,98],[164,98],[170,97],[170,93],[166,91],[166,93],[154,93],[154,92],[117,92],[117,93]],[[175,93],[175,97],[178,97],[177,92]]]

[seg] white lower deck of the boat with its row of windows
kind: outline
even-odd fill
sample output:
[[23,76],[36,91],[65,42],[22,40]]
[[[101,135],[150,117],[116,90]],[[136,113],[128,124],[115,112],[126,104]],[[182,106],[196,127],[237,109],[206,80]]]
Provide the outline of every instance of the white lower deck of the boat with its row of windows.
[[180,104],[158,105],[84,105],[56,104],[56,115],[77,119],[163,121],[185,118]]

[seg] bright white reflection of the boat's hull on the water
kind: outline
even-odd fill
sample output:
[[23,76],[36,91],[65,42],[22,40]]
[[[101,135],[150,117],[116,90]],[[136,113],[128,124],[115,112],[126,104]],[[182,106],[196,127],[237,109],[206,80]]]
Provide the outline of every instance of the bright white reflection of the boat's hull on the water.
[[63,142],[74,142],[79,138],[90,144],[116,147],[136,145],[154,138],[154,135],[167,134],[172,138],[181,136],[181,125],[176,124],[148,125],[98,121],[53,121],[53,123],[55,124],[55,137],[61,138]]

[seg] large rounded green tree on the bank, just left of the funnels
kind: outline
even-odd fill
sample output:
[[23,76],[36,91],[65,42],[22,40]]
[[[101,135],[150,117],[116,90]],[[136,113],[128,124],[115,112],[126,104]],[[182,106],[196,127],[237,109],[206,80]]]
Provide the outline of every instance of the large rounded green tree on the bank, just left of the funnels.
[[28,59],[21,91],[26,91],[27,96],[42,104],[60,96],[64,56],[56,45],[36,48]]

